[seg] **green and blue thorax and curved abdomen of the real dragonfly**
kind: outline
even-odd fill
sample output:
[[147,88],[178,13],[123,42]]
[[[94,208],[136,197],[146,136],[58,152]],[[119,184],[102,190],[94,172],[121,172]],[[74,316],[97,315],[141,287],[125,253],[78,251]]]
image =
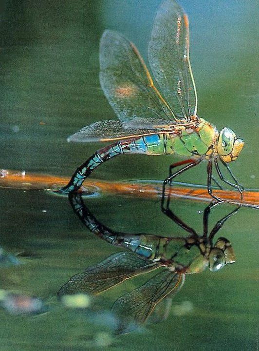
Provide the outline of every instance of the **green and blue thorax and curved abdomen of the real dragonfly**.
[[69,183],[61,189],[62,193],[71,193],[80,188],[92,171],[108,159],[123,154],[171,155],[191,157],[208,155],[216,129],[202,121],[195,129],[179,126],[172,133],[151,134],[141,137],[122,139],[106,146],[93,154],[72,176]]

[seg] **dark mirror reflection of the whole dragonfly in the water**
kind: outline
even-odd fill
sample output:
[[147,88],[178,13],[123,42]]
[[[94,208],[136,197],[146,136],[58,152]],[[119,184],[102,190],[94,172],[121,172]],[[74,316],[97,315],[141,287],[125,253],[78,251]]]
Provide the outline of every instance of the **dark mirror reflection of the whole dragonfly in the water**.
[[[186,237],[166,237],[111,230],[92,215],[80,193],[70,194],[69,199],[74,213],[92,234],[127,251],[112,254],[99,264],[89,267],[84,273],[75,274],[59,290],[59,297],[74,293],[99,294],[129,278],[160,269],[144,285],[119,297],[113,304],[112,312],[124,320],[126,325],[132,321],[137,324],[145,323],[159,305],[163,305],[166,297],[172,297],[180,290],[186,274],[200,273],[206,267],[216,272],[235,262],[230,241],[219,237],[213,245],[213,238],[240,206],[218,221],[208,234],[210,211],[220,202],[208,205],[203,213],[202,235],[197,234],[166,207],[163,209],[165,215],[188,233]],[[161,312],[160,318],[164,319]],[[122,324],[123,330],[126,328],[125,324]]]

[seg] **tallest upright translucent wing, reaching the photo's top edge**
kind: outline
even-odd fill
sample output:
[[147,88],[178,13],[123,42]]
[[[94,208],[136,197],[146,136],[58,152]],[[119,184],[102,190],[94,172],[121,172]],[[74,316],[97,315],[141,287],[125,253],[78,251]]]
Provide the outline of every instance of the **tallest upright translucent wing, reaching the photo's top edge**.
[[189,61],[188,17],[173,0],[156,15],[148,47],[153,75],[176,116],[197,114],[197,93]]

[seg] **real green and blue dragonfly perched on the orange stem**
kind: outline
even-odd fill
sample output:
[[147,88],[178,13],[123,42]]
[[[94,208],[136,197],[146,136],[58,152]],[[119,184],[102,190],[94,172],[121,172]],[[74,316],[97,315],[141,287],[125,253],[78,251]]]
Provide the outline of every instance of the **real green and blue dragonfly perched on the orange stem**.
[[[188,17],[174,0],[162,3],[148,46],[148,68],[135,45],[121,34],[106,30],[100,41],[100,84],[119,120],[92,123],[68,138],[74,142],[110,142],[77,168],[62,193],[77,191],[92,171],[112,157],[124,154],[176,155],[169,167],[163,193],[172,180],[207,161],[207,190],[213,194],[213,164],[220,179],[242,186],[229,168],[244,141],[228,127],[220,132],[198,117],[198,98],[189,59]],[[231,176],[225,178],[219,161]],[[175,171],[176,167],[182,167]]]

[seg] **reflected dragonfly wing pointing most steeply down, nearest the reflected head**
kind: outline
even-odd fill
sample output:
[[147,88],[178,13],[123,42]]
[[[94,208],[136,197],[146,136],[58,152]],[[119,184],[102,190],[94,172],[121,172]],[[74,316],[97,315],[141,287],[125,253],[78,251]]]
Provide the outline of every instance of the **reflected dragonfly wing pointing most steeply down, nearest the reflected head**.
[[112,311],[124,320],[144,323],[168,293],[177,292],[184,283],[184,275],[164,270],[147,281],[146,284],[119,297]]

